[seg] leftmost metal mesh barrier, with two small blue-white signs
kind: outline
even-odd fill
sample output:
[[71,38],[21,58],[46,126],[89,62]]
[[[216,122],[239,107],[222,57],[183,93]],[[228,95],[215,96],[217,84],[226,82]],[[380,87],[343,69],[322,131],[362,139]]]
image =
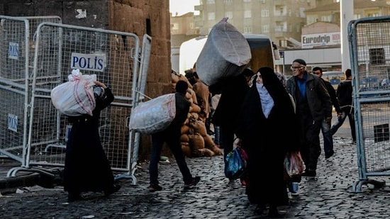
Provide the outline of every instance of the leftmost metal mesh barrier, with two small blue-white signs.
[[58,16],[0,16],[0,154],[26,166],[30,73],[39,23]]

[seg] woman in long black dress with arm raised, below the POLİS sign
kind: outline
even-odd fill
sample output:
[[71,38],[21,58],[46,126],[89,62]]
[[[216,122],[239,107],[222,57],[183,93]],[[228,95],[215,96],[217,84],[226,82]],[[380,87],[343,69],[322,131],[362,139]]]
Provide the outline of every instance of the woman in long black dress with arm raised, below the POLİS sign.
[[68,201],[82,199],[84,191],[104,191],[108,196],[118,191],[106,153],[100,142],[100,112],[113,101],[111,90],[101,82],[95,82],[104,89],[104,95],[96,97],[93,116],[69,117],[72,129],[69,133],[65,152],[64,190]]

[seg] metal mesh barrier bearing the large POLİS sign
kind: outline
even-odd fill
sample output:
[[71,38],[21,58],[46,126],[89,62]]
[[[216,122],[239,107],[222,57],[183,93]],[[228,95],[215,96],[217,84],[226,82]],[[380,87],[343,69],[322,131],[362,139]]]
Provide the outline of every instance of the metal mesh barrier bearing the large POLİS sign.
[[137,162],[139,135],[130,133],[126,125],[131,108],[140,101],[137,91],[145,89],[151,40],[145,35],[143,41],[145,49],[140,47],[140,40],[133,33],[40,23],[30,82],[28,168],[39,171],[38,167],[65,164],[65,145],[71,124],[52,105],[50,91],[67,82],[67,76],[77,68],[82,74],[96,74],[97,79],[113,91],[115,100],[101,111],[101,144],[112,169],[123,172],[123,177],[133,179],[135,184],[132,163]]

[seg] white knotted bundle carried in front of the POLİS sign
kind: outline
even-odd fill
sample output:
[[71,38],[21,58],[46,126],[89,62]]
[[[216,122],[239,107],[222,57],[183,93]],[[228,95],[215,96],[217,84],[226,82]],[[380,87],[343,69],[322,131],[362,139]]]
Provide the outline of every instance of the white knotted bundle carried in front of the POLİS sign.
[[96,74],[82,75],[79,69],[74,69],[68,76],[69,82],[56,86],[51,91],[52,103],[60,113],[66,116],[81,116],[88,114],[96,107],[94,98],[94,81]]

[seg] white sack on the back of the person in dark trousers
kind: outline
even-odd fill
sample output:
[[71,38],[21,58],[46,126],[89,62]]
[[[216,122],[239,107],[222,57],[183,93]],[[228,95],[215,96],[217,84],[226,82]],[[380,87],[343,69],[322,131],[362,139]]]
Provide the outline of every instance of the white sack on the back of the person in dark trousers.
[[149,135],[167,128],[176,116],[174,95],[165,94],[133,108],[130,115],[130,130]]

